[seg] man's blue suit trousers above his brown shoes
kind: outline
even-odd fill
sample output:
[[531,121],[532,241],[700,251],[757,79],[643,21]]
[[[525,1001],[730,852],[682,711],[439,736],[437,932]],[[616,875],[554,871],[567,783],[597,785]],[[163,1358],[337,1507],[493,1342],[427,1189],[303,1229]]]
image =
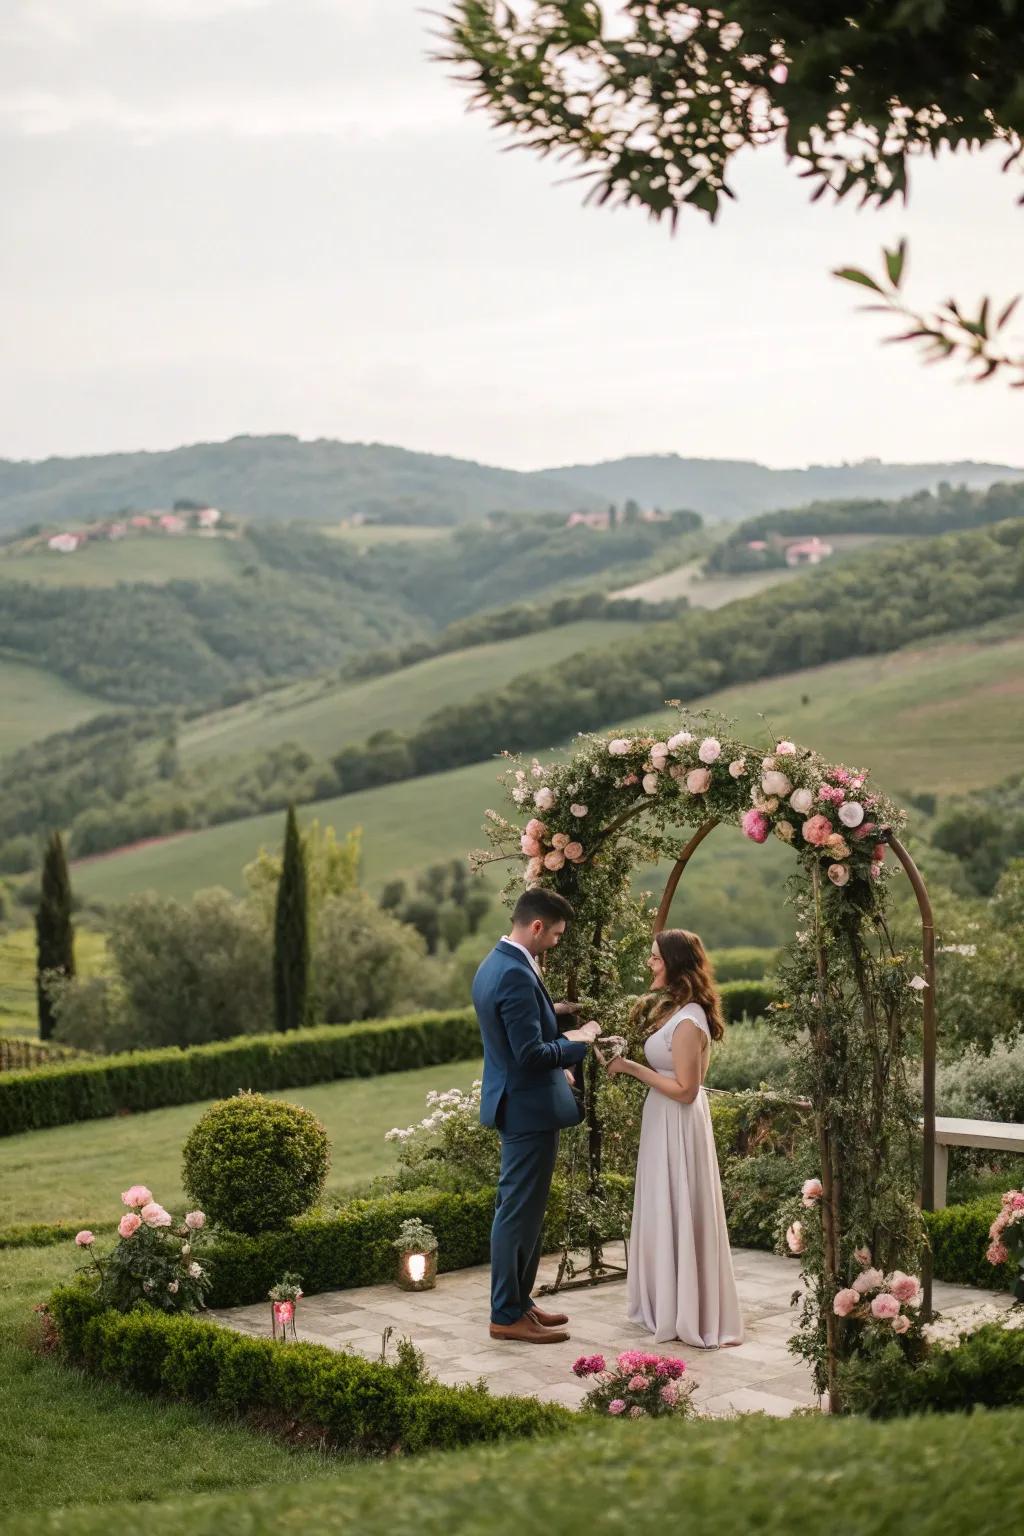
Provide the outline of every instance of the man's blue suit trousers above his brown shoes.
[[533,1307],[540,1230],[559,1155],[559,1132],[500,1132],[502,1170],[491,1224],[491,1322],[517,1322]]

